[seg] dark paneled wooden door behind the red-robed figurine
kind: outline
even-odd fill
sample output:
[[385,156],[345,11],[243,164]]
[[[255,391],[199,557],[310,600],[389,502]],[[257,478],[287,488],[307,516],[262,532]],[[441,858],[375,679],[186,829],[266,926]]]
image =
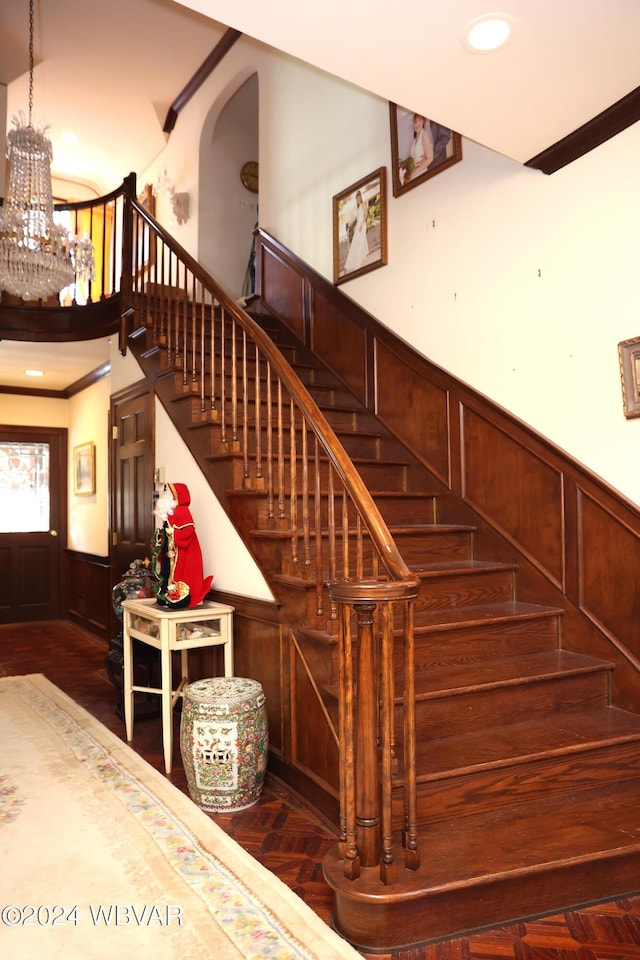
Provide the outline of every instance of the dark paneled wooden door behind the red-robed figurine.
[[119,578],[132,560],[151,557],[155,530],[154,408],[153,394],[146,383],[135,384],[112,397],[111,424],[112,559],[113,575]]

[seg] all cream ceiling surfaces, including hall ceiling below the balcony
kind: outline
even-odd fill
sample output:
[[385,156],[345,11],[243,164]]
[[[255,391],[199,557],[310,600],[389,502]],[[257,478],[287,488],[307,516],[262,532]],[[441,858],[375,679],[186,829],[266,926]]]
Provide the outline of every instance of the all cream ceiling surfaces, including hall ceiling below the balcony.
[[[477,54],[463,31],[496,11],[490,0],[278,0],[277,15],[264,0],[35,0],[33,120],[50,124],[57,178],[107,193],[162,152],[171,104],[227,27],[520,163],[640,86],[638,0],[501,0],[498,9],[512,39]],[[28,11],[28,0],[0,0],[8,124],[28,106]],[[24,385],[20,348],[11,347],[12,372],[0,347],[0,383]],[[100,365],[79,348],[64,386]]]

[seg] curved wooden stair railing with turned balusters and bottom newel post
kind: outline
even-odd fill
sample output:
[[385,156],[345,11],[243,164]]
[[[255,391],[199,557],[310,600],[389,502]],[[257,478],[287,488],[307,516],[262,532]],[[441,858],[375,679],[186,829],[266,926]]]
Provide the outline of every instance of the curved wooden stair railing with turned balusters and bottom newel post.
[[[315,579],[315,609],[307,613],[307,622],[338,633],[339,849],[345,875],[355,879],[361,866],[379,863],[382,882],[393,883],[398,622],[403,624],[408,716],[403,769],[413,792],[404,799],[403,857],[408,868],[419,864],[412,720],[412,603],[418,579],[327,418],[275,343],[131,190],[128,205],[133,224],[127,232],[146,251],[147,262],[137,262],[133,251],[131,300],[124,306],[133,311],[134,324],[144,325],[152,342],[166,351],[178,389],[199,398],[200,417],[218,425],[220,452],[239,464],[233,485],[265,491],[268,522],[288,538],[282,572]],[[126,333],[123,328],[123,351]]]

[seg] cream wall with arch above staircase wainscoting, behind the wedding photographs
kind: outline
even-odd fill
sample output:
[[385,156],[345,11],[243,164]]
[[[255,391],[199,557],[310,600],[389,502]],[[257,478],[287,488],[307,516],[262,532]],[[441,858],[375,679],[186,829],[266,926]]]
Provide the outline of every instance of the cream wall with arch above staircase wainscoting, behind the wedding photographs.
[[[388,104],[242,39],[167,145],[192,168],[196,217],[205,119],[254,70],[260,224],[331,279],[332,197],[389,167]],[[393,198],[389,182],[389,263],[342,288],[637,504],[640,419],[623,415],[617,344],[640,335],[639,154],[636,124],[547,177],[465,140],[462,162],[416,189]]]

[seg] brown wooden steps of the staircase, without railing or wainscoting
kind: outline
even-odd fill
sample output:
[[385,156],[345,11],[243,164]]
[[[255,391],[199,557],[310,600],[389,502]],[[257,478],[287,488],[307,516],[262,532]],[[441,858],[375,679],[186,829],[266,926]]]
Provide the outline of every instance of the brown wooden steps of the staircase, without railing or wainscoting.
[[[640,717],[611,705],[615,664],[580,652],[563,609],[519,595],[517,564],[476,556],[475,525],[460,522],[460,504],[438,479],[291,331],[269,316],[257,319],[332,425],[419,581],[420,865],[396,864],[395,883],[383,883],[377,865],[345,877],[338,847],[325,863],[337,929],[365,950],[388,950],[639,889]],[[310,662],[337,730],[337,626],[327,607],[318,612],[315,558],[292,552],[290,516],[274,520],[253,465],[247,477],[242,438],[223,439],[220,418],[202,412],[200,394],[176,373],[181,355],[167,358],[163,346],[149,349],[145,337],[134,337],[131,346],[227,505],[297,642],[313,646]],[[252,372],[245,365],[241,375],[231,361],[230,352],[227,393],[241,404],[242,385],[236,383],[236,393],[232,381],[244,378],[246,385]],[[255,410],[248,413],[255,417]],[[290,427],[287,411],[279,415]],[[252,464],[255,457],[250,450]],[[316,469],[319,483],[307,509],[326,520],[325,458]],[[290,470],[289,459],[286,477]],[[337,509],[339,525],[339,503]],[[375,575],[375,564],[368,564],[363,574]],[[396,691],[402,691],[404,642],[398,624]],[[392,824],[399,835],[406,705],[402,693],[393,702]]]

